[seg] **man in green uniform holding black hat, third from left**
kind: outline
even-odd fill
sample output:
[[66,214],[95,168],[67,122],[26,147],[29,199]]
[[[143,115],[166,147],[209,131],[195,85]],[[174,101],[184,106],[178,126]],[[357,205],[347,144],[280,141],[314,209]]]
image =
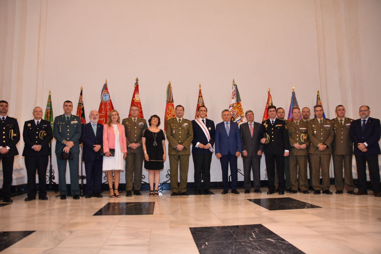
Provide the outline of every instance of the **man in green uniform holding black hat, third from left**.
[[81,119],[73,116],[73,103],[64,102],[64,114],[54,118],[53,135],[56,138],[56,156],[58,166],[58,187],[61,199],[66,199],[66,162],[62,152],[69,154],[70,190],[73,199],[79,199],[78,165],[79,165],[79,139],[82,134]]

